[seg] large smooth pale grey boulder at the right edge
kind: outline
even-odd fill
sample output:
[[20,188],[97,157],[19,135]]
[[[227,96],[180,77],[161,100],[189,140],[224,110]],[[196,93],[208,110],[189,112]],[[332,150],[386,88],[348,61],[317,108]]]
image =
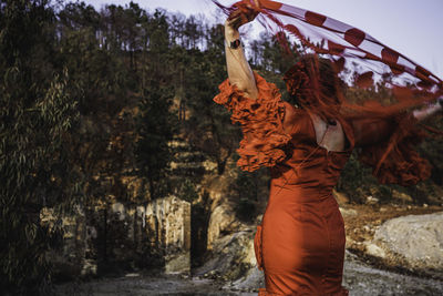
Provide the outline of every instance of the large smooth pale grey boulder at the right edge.
[[390,220],[377,229],[373,243],[412,268],[443,271],[443,212]]

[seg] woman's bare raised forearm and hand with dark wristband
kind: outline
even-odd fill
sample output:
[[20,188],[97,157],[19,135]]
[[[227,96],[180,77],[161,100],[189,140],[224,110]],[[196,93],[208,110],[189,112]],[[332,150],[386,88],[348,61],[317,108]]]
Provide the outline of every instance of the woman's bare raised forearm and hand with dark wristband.
[[244,91],[250,99],[257,99],[258,90],[253,70],[240,44],[238,28],[255,19],[256,13],[237,10],[225,22],[225,51],[229,82]]

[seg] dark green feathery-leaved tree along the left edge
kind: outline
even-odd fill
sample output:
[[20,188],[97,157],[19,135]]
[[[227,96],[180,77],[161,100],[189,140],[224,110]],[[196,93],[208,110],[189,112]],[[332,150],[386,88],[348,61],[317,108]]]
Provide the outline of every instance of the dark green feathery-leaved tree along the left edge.
[[78,105],[68,72],[56,74],[44,51],[54,20],[48,4],[0,6],[0,284],[27,295],[50,278],[44,252],[56,233],[40,225],[41,208],[81,196],[69,147]]

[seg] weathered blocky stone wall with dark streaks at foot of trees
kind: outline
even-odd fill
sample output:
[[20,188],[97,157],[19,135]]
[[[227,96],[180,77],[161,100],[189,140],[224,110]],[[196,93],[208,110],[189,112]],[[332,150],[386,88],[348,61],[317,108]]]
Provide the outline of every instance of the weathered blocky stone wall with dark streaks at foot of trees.
[[49,254],[62,277],[106,273],[110,265],[190,272],[190,204],[176,196],[144,205],[76,207],[61,220],[43,208],[41,223],[64,233],[61,247]]

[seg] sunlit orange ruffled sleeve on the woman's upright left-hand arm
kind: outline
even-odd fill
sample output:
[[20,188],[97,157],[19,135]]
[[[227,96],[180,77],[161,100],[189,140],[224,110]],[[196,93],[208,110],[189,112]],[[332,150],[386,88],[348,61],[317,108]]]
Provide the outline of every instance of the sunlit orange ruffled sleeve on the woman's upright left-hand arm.
[[256,100],[245,95],[236,85],[225,80],[220,93],[214,98],[233,114],[233,123],[240,123],[244,139],[237,153],[237,165],[244,171],[256,171],[260,166],[274,166],[287,154],[285,146],[291,136],[284,131],[285,105],[278,88],[255,73],[258,89]]

